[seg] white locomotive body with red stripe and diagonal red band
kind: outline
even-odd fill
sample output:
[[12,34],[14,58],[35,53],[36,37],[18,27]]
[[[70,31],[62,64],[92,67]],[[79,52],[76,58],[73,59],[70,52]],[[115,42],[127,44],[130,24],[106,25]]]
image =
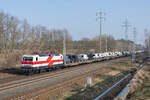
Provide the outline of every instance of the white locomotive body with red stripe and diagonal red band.
[[23,55],[22,57],[22,69],[24,70],[40,70],[62,64],[63,55],[61,54],[34,54]]

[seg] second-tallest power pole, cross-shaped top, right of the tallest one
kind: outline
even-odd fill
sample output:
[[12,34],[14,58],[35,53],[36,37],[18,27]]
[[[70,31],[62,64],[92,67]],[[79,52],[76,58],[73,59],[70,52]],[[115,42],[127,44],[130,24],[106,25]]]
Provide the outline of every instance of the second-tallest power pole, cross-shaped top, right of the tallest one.
[[[125,19],[125,21],[123,22],[123,25],[122,25],[124,28],[125,28],[125,39],[126,40],[128,40],[128,29],[129,29],[129,27],[131,26],[130,24],[129,24],[129,21],[128,21],[128,19]],[[128,50],[128,43],[127,43],[127,45],[126,45],[126,50]]]

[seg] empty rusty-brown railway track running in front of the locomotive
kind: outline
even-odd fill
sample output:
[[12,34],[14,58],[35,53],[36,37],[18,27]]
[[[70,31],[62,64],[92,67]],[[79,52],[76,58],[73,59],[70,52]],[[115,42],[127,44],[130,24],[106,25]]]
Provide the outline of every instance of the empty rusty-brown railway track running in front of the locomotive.
[[[92,68],[94,68],[94,67],[92,67]],[[80,72],[80,70],[85,70],[85,69],[87,69],[87,68],[65,70],[63,72],[49,73],[49,74],[34,77],[34,78],[27,78],[27,79],[22,79],[22,80],[18,80],[18,81],[13,81],[13,82],[10,82],[10,83],[0,84],[0,93],[4,92],[4,91],[7,91],[9,89],[18,88],[20,86],[30,85],[32,83],[39,82],[39,81],[42,81],[42,80],[47,80],[47,79],[50,79],[50,78],[63,76],[64,74],[73,73],[75,71],[76,71],[76,73],[78,73],[78,72]],[[87,70],[87,72],[90,71],[91,69]]]

